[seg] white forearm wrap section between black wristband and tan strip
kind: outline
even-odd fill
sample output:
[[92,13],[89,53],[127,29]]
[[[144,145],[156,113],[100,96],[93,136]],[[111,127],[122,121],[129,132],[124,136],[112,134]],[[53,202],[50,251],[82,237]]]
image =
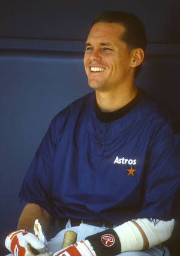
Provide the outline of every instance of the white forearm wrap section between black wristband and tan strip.
[[121,252],[141,251],[143,249],[143,237],[139,228],[128,221],[114,228],[121,242]]

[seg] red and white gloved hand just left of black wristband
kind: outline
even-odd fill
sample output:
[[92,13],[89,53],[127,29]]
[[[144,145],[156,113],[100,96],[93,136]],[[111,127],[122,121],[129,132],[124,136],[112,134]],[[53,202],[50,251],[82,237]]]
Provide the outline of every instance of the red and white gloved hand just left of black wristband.
[[94,249],[88,240],[74,243],[66,249],[55,252],[53,256],[96,256]]

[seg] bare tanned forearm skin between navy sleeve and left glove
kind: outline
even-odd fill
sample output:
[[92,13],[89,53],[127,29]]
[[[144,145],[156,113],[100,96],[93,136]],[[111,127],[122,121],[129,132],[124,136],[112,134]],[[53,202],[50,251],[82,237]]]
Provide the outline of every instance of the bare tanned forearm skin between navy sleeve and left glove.
[[17,224],[17,230],[23,229],[33,233],[35,219],[39,220],[44,233],[47,234],[53,224],[53,217],[43,207],[32,203],[26,204],[23,209]]

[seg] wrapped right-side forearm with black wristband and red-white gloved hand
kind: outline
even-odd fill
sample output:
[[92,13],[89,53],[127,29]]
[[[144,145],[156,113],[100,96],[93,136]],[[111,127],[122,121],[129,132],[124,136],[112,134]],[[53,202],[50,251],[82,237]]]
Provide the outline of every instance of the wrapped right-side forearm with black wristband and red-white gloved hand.
[[55,252],[53,256],[61,256],[62,252],[70,255],[119,255],[125,251],[141,251],[163,243],[172,234],[174,219],[160,221],[158,219],[136,219],[125,222],[114,229],[86,237],[84,241],[75,243],[69,248]]

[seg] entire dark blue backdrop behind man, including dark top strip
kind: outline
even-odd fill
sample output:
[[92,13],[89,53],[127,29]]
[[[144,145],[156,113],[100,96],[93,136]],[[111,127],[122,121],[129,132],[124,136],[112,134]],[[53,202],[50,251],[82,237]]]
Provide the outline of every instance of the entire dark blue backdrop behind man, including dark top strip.
[[23,177],[50,120],[88,93],[83,50],[101,10],[136,14],[148,48],[136,84],[179,117],[179,1],[10,1],[0,8],[0,255],[16,229]]

